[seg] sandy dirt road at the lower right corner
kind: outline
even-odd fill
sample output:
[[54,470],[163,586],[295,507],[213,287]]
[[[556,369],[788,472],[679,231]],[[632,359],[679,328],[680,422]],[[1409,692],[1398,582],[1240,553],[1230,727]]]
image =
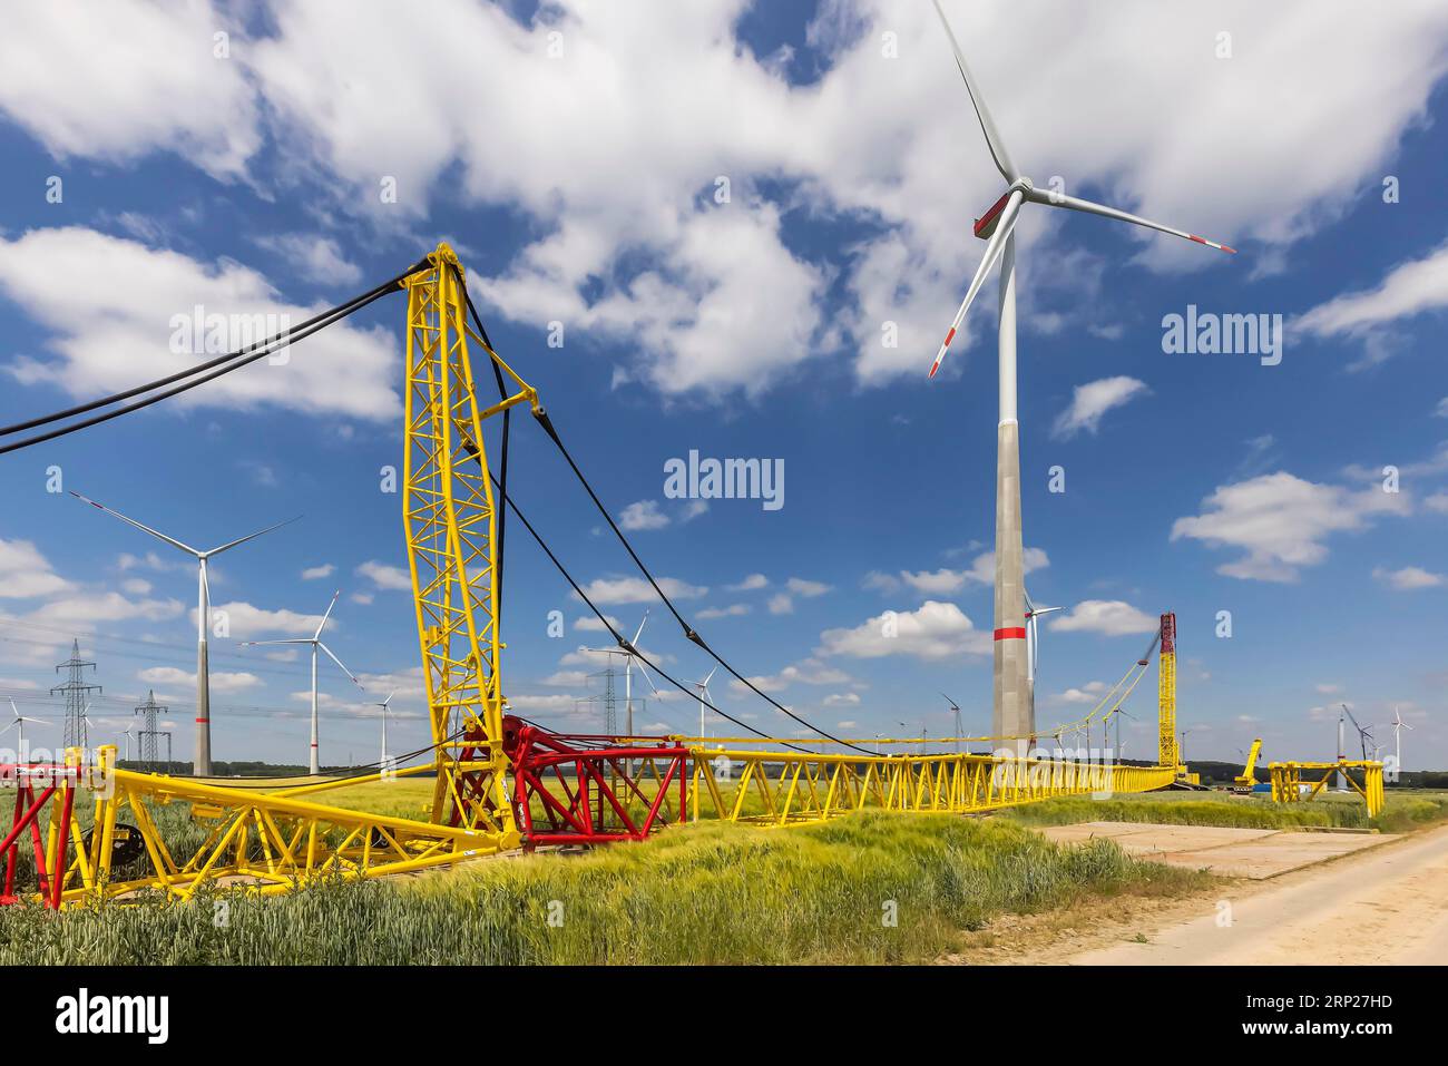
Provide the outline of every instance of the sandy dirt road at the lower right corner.
[[1056,962],[1115,966],[1448,965],[1448,827],[1258,885],[1156,931]]

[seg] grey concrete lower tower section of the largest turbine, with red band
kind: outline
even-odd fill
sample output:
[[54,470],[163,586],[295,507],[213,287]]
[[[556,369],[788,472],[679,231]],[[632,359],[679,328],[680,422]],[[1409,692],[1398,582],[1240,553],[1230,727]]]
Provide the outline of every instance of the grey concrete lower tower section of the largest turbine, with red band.
[[1001,742],[1025,752],[1035,731],[1025,659],[1025,574],[1021,542],[1021,430],[1015,420],[996,430],[995,717]]

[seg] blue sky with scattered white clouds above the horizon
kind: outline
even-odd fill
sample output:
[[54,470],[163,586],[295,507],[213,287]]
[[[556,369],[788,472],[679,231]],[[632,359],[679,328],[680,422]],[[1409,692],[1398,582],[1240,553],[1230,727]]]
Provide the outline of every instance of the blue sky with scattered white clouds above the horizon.
[[[1043,209],[1022,222],[1027,584],[1067,608],[1043,633],[1043,727],[1089,710],[1174,610],[1189,755],[1263,736],[1268,757],[1328,756],[1347,701],[1373,723],[1400,707],[1405,763],[1448,765],[1448,16],[1328,7],[1063,4],[1027,26],[1003,4],[947,4],[1038,184],[1239,249]],[[447,239],[500,351],[725,658],[833,731],[940,734],[940,691],[983,731],[993,282],[941,377],[925,371],[1002,182],[928,7],[458,4],[427,26],[324,9],[120,3],[64,30],[58,10],[16,16],[0,43],[4,421],[194,359],[168,337],[195,303],[300,319]],[[1163,317],[1189,304],[1281,316],[1280,364],[1166,352]],[[306,662],[236,643],[301,634],[336,588],[330,645],[366,692],[323,666],[323,760],[375,757],[369,704],[392,688],[392,746],[421,746],[400,498],[379,491],[401,459],[403,316],[390,297],[285,366],[4,456],[0,692],[56,715],[45,692],[78,636],[100,731],[155,688],[191,747],[191,563],[48,492],[58,466],[65,490],[201,546],[304,516],[213,575],[232,627],[211,652],[217,757],[303,759]],[[529,517],[579,579],[637,576],[527,421],[511,478]],[[665,463],[691,449],[782,461],[783,505],[666,498]],[[520,527],[507,566],[510,700],[601,727],[576,701],[602,663],[575,649],[602,634],[576,626],[585,608]],[[649,604],[601,588],[637,626]],[[653,607],[644,647],[705,673]],[[712,691],[759,729],[795,729],[720,678]],[[1128,756],[1150,750],[1154,702],[1153,675],[1127,704],[1142,723]],[[696,721],[682,697],[637,715]]]

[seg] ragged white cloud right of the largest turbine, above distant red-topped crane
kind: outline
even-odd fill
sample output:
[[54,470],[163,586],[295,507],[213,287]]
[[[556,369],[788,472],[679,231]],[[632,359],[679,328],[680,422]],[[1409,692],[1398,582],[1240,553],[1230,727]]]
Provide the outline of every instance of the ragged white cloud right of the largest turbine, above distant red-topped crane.
[[1328,558],[1328,534],[1361,530],[1378,514],[1409,510],[1402,492],[1352,491],[1303,481],[1292,474],[1264,474],[1218,487],[1199,516],[1177,519],[1171,539],[1190,537],[1212,547],[1239,547],[1245,555],[1218,566],[1218,574],[1250,581],[1292,582],[1299,568]]

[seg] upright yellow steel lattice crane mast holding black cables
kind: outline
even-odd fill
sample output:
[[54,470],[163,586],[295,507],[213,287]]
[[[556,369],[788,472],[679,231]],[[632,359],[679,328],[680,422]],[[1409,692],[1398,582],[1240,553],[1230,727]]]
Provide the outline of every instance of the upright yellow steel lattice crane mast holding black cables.
[[[407,288],[407,442],[403,521],[437,779],[434,821],[518,843],[502,752],[495,579],[497,510],[482,423],[537,394],[468,326],[463,271],[447,245]],[[469,345],[517,391],[479,407]]]

